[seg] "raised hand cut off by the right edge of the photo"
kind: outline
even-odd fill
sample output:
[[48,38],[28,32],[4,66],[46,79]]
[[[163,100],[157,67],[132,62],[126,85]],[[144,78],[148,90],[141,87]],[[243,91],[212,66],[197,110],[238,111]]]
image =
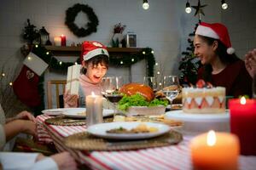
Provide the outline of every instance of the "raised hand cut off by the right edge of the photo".
[[251,77],[256,76],[256,48],[245,55],[245,65]]

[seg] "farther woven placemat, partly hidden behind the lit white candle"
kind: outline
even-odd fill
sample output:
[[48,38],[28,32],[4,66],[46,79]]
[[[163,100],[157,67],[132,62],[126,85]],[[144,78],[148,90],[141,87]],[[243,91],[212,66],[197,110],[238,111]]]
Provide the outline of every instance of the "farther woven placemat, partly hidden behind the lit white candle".
[[[55,116],[53,118],[46,119],[45,122],[50,125],[57,126],[83,126],[86,125],[84,119],[73,119],[67,116]],[[104,117],[103,122],[113,122],[113,117]]]

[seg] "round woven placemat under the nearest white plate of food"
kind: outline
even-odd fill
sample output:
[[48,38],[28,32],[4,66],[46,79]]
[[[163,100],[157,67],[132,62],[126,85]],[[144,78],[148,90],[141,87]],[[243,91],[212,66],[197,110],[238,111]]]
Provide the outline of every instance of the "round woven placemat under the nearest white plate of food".
[[89,133],[75,133],[68,136],[64,143],[67,147],[76,150],[138,150],[144,148],[160,147],[177,144],[183,140],[181,133],[170,131],[152,139],[143,140],[108,140],[97,138]]

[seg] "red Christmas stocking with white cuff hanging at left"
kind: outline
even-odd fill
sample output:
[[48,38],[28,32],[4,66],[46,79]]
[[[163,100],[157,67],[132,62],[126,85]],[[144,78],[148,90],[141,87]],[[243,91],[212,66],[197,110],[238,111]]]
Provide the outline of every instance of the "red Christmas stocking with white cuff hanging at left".
[[48,64],[32,52],[26,56],[23,64],[20,75],[13,85],[14,92],[21,102],[29,107],[35,107],[41,103],[38,92],[39,77],[48,67]]

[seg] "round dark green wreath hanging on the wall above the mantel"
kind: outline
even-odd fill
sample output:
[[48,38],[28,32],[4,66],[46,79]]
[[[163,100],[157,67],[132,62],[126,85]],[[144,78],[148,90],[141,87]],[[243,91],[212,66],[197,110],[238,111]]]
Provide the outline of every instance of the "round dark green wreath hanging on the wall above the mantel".
[[[89,22],[86,24],[87,29],[84,27],[79,28],[79,26],[74,23],[77,15],[81,11],[88,16]],[[89,36],[92,32],[97,31],[99,20],[90,6],[77,3],[73,5],[73,7],[67,8],[65,24],[68,26],[69,30],[73,31],[73,34],[77,37],[86,37]]]

